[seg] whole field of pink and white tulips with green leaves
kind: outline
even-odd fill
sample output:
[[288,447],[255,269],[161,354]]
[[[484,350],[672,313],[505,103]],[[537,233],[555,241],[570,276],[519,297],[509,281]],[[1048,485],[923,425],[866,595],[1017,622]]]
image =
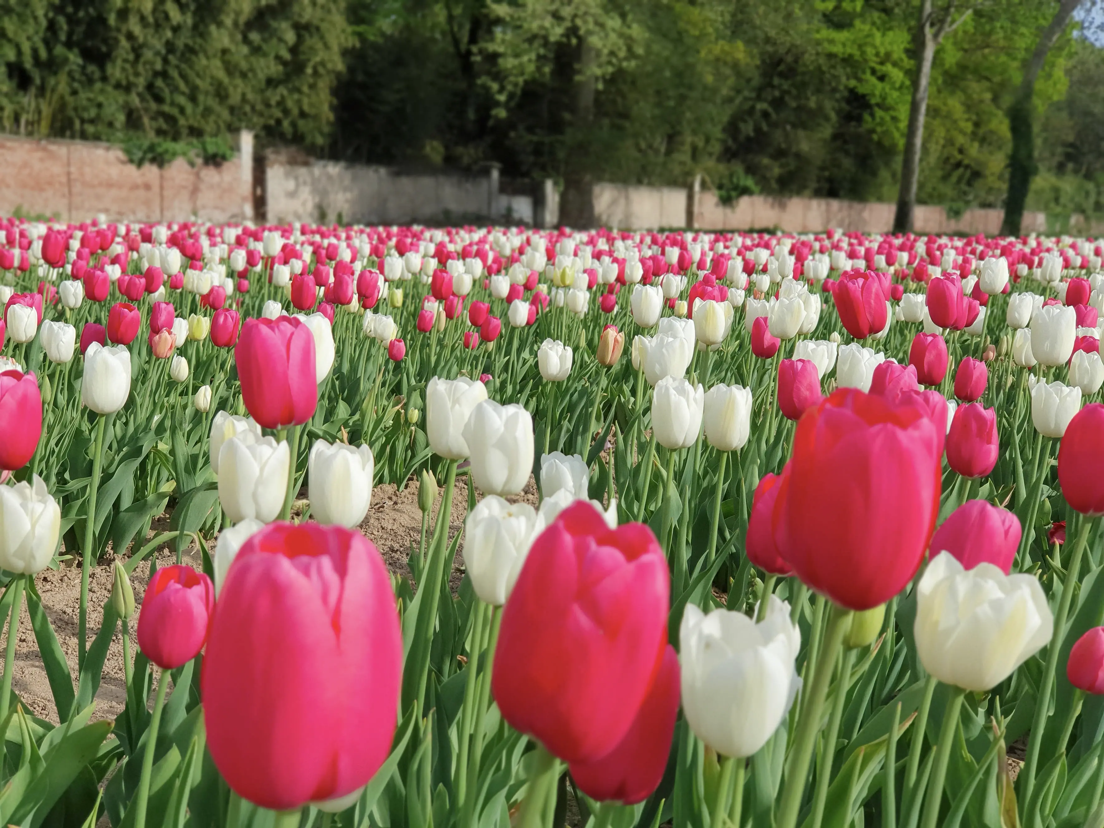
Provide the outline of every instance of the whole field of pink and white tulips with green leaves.
[[1102,255],[0,220],[0,824],[1104,828]]

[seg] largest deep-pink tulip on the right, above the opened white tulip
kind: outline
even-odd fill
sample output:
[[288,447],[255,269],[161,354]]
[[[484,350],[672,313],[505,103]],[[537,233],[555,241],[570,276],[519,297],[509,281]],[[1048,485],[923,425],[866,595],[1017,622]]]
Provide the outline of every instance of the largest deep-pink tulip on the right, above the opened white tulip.
[[772,521],[802,581],[851,609],[901,592],[935,527],[942,447],[912,395],[841,389],[806,412]]

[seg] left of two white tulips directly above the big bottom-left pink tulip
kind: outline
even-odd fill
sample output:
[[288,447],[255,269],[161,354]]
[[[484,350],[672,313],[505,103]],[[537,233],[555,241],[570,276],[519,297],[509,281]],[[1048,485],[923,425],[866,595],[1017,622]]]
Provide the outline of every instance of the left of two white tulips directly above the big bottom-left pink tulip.
[[232,523],[276,520],[287,493],[287,442],[243,432],[219,449],[219,500]]

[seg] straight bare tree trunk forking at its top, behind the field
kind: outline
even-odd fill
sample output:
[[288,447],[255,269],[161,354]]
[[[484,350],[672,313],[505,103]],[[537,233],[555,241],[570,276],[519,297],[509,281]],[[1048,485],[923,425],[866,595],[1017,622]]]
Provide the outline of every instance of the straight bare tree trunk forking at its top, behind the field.
[[904,156],[901,159],[901,184],[898,192],[896,213],[893,230],[904,233],[912,230],[916,211],[916,187],[920,182],[920,153],[924,141],[924,118],[927,114],[927,96],[932,83],[932,63],[940,43],[962,25],[974,11],[976,2],[945,0],[936,8],[935,0],[921,0],[916,20],[915,50],[916,74],[912,84],[912,100],[909,106],[909,127],[905,132]]

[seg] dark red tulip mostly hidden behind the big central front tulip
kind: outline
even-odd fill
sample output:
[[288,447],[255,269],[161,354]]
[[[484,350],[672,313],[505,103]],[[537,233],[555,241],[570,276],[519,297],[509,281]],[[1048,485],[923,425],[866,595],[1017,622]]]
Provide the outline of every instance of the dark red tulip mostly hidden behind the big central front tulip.
[[598,802],[643,803],[659,786],[679,712],[679,657],[664,649],[659,671],[620,743],[605,756],[569,766],[578,789]]

